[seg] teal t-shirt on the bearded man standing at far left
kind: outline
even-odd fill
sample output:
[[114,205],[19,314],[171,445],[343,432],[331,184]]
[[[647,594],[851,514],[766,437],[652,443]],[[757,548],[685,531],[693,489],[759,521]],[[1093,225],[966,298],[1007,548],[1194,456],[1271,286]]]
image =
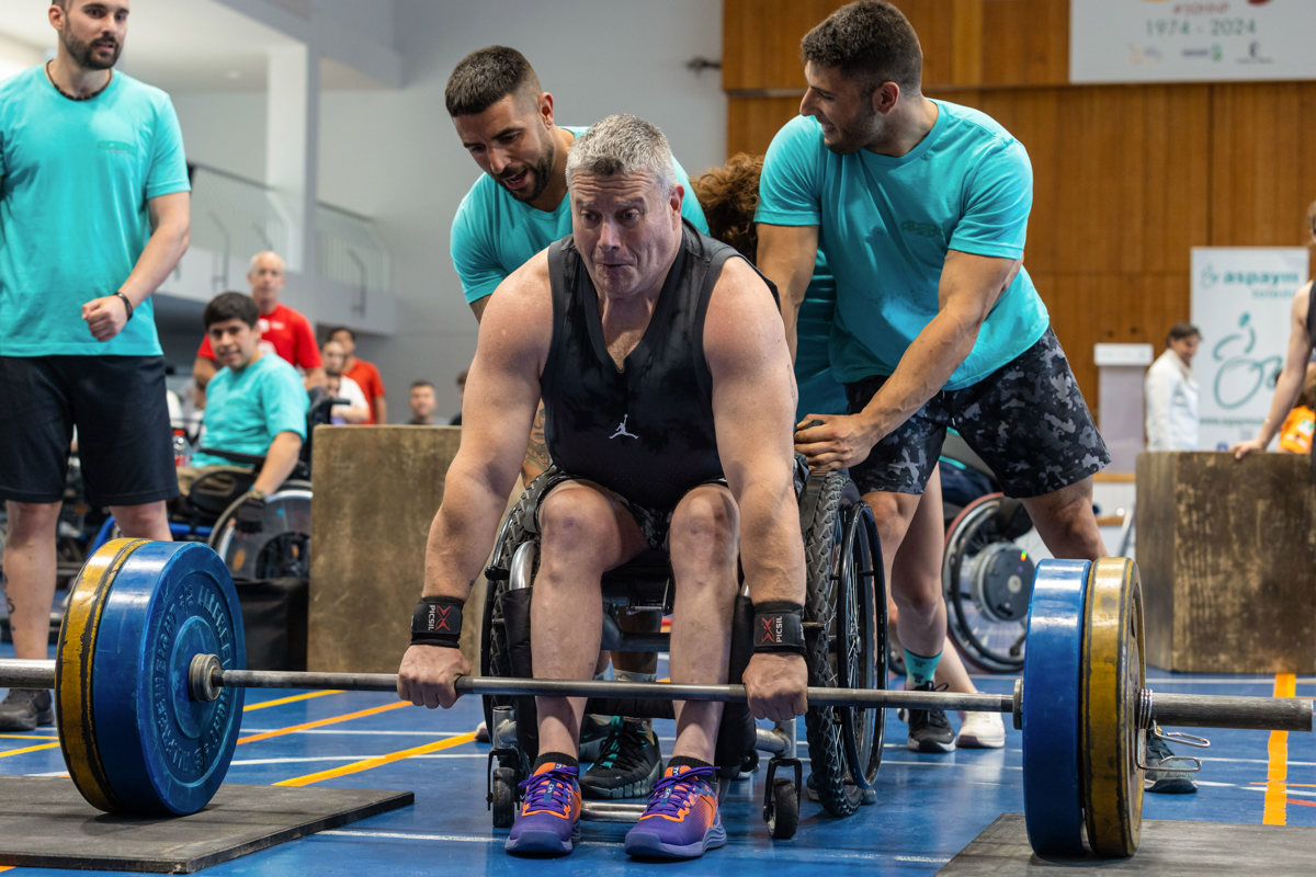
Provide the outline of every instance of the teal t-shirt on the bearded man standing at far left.
[[187,192],[168,95],[117,70],[89,100],[43,67],[0,83],[0,356],[161,354],[150,298],[92,338],[82,306],[113,295],[146,241],[146,202]]

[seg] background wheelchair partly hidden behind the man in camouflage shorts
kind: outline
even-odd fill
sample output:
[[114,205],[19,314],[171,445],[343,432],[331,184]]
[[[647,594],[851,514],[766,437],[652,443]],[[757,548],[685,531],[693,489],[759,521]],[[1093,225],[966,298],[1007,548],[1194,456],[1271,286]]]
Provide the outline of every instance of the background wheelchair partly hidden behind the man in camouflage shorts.
[[[967,660],[987,671],[1017,673],[1024,668],[1034,555],[1045,546],[1023,504],[1000,492],[996,476],[962,438],[948,434],[941,454],[946,630]],[[966,471],[970,477],[963,481],[975,486],[948,490],[948,464]]]

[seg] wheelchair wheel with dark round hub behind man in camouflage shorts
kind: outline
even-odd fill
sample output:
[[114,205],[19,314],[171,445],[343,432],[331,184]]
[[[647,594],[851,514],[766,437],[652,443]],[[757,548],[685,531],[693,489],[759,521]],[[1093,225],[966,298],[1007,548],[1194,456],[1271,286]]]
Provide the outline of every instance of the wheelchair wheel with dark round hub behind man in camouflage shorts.
[[[998,514],[1004,497],[970,502],[946,531],[941,585],[946,628],[974,664],[995,672],[1024,667],[1028,601],[1033,592],[1036,530],[1012,538]],[[1017,533],[1017,529],[1015,530]]]

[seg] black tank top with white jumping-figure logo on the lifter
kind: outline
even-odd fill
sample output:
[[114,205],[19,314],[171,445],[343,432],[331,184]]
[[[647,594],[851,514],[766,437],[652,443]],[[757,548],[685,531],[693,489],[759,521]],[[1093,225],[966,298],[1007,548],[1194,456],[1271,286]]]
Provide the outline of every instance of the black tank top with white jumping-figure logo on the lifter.
[[649,327],[619,369],[572,238],[549,247],[553,342],[542,393],[555,465],[654,509],[671,509],[691,488],[722,477],[704,317],[729,256],[738,254],[684,224]]

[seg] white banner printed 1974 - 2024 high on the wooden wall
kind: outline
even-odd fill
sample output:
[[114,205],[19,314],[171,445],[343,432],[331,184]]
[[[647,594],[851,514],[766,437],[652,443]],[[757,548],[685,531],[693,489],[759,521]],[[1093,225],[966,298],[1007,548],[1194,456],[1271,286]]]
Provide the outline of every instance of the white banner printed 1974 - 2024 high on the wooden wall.
[[1316,79],[1313,0],[1070,0],[1070,82]]

